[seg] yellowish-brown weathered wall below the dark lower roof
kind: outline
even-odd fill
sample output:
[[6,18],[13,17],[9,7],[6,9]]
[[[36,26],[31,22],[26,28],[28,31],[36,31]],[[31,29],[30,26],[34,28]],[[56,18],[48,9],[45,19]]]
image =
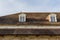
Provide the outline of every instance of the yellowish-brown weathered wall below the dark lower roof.
[[0,40],[60,40],[60,36],[5,35],[0,36]]

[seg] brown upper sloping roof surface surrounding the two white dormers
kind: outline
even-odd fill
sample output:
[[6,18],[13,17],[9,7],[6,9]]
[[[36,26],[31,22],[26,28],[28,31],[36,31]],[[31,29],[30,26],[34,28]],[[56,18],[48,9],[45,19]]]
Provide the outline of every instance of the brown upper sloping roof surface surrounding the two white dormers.
[[46,17],[51,14],[51,12],[23,12],[27,15],[27,21],[20,23],[18,15],[20,13],[2,16],[0,17],[0,25],[44,25],[44,26],[60,26],[60,13],[54,13],[57,15],[56,23],[49,22]]

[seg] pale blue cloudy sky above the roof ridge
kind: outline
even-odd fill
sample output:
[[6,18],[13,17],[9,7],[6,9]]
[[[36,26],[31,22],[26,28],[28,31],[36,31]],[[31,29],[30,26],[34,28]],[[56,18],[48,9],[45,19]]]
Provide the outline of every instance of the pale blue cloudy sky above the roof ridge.
[[0,16],[18,12],[60,12],[60,0],[0,0]]

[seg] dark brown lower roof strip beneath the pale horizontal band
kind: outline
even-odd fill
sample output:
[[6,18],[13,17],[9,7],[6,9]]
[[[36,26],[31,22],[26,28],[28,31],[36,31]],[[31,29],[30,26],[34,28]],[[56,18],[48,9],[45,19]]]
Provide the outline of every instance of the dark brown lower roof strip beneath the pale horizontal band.
[[60,29],[0,29],[0,35],[60,35]]

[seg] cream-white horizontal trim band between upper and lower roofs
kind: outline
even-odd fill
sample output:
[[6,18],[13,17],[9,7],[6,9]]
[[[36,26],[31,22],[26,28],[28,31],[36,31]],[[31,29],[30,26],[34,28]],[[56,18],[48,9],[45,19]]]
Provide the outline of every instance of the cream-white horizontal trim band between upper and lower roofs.
[[60,26],[1,26],[0,29],[60,29]]

